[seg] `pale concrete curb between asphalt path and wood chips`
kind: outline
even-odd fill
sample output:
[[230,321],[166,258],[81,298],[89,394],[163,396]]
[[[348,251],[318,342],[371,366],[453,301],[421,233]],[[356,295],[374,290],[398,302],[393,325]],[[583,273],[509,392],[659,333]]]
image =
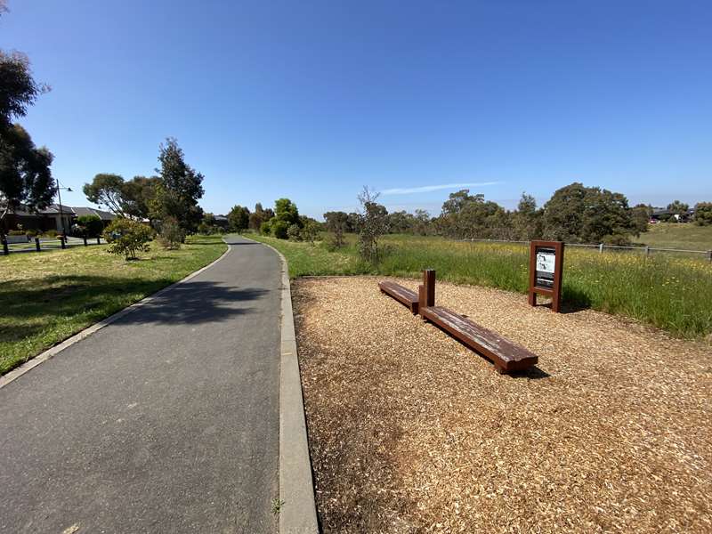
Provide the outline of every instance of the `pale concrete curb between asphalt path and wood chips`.
[[[244,236],[243,236],[244,237]],[[249,238],[246,238],[249,239]],[[250,239],[252,240],[252,239]],[[255,241],[255,243],[260,243]],[[279,360],[279,510],[280,534],[318,534],[312,462],[306,437],[302,378],[296,352],[295,319],[289,269],[284,255],[270,247],[282,261],[282,343]]]

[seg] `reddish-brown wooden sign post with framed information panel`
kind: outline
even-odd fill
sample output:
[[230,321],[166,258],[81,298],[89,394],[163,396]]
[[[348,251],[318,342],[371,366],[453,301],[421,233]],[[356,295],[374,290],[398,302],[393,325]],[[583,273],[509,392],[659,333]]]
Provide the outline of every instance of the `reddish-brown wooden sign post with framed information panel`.
[[537,295],[551,297],[552,312],[562,303],[562,241],[531,241],[529,252],[529,303],[537,305]]

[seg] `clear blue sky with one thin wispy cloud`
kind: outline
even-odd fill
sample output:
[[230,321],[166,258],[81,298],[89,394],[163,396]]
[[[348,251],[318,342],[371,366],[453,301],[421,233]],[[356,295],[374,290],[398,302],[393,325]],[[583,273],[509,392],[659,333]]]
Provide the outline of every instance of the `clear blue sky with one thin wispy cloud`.
[[[570,182],[712,200],[712,2],[10,0],[0,48],[53,90],[20,122],[81,191],[174,136],[206,211],[440,212]],[[80,192],[65,204],[85,205]]]

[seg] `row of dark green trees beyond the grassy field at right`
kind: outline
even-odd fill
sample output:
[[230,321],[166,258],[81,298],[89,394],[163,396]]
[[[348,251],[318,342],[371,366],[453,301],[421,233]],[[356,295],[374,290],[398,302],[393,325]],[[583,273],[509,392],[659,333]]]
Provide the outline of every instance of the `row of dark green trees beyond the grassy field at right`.
[[[650,205],[629,206],[622,193],[587,187],[579,182],[554,191],[543,206],[537,206],[532,196],[522,193],[514,210],[506,210],[469,190],[450,193],[442,204],[441,214],[434,217],[421,209],[413,214],[388,213],[373,198],[365,202],[361,199],[361,206],[362,211],[364,206],[370,206],[372,214],[378,215],[383,233],[441,235],[453,239],[552,239],[611,245],[629,244],[634,236],[647,231],[653,213]],[[688,209],[688,205],[678,200],[667,206],[670,214],[686,214]],[[361,232],[364,214],[327,212],[324,219],[339,245],[344,233]],[[695,206],[694,222],[712,223],[712,203],[700,202]]]

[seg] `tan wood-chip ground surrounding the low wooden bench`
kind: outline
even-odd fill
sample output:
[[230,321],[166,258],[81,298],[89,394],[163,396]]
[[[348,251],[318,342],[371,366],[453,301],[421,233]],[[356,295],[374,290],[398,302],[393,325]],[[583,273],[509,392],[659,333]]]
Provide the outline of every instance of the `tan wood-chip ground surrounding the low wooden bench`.
[[712,345],[439,283],[538,354],[500,376],[377,280],[293,286],[325,532],[712,530]]

